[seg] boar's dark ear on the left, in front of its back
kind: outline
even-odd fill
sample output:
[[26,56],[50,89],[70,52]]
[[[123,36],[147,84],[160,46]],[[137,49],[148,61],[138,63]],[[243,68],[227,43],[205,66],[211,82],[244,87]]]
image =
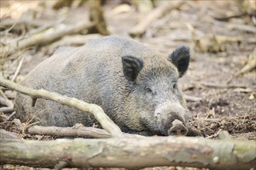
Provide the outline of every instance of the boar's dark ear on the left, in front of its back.
[[123,56],[123,73],[127,80],[136,80],[138,73],[143,67],[143,61],[134,56]]

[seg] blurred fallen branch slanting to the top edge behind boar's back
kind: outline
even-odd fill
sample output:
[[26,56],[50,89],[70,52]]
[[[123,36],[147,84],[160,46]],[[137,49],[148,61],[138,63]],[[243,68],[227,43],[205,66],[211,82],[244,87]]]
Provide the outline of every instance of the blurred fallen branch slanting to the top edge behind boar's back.
[[149,15],[147,15],[144,19],[141,20],[137,24],[137,26],[133,27],[133,29],[130,30],[130,36],[142,36],[146,29],[157,19],[160,19],[163,15],[170,12],[171,10],[180,7],[185,2],[184,1],[164,1],[160,6],[155,8],[152,12],[150,12]]

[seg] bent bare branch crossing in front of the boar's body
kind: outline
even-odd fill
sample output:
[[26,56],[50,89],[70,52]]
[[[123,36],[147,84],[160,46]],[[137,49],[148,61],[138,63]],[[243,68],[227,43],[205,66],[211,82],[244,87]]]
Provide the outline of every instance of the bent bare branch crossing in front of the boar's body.
[[99,121],[99,124],[102,125],[102,128],[106,129],[106,131],[108,131],[112,137],[118,137],[122,135],[120,128],[104,113],[102,107],[99,107],[97,104],[88,104],[76,98],[66,97],[61,94],[43,89],[33,90],[28,87],[23,87],[17,83],[13,83],[10,80],[2,79],[0,85],[32,97],[34,104],[37,98],[43,98],[47,100],[53,100],[58,104],[63,104],[69,107],[74,107],[81,111],[89,112],[94,115],[95,119]]

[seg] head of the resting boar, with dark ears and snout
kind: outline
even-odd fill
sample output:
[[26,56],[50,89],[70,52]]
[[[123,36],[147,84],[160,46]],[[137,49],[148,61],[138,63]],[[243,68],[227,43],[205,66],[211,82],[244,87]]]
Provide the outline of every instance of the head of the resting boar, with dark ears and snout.
[[129,82],[123,120],[132,133],[187,134],[189,118],[178,79],[189,66],[189,47],[180,46],[170,56],[123,56],[123,73]]

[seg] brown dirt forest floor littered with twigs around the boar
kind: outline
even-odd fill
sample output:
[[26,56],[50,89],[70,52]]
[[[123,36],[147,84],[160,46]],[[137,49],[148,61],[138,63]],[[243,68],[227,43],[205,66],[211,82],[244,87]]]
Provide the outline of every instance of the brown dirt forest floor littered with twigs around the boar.
[[[67,23],[88,19],[86,5],[54,10],[39,7],[35,1],[3,2],[1,8],[10,8],[9,16],[14,19],[20,19],[20,15],[28,13],[24,8],[30,8],[36,17],[47,19],[48,22],[63,16]],[[192,113],[190,124],[206,134],[206,138],[218,138],[220,131],[225,130],[232,138],[256,140],[256,71],[254,69],[236,76],[256,44],[255,15],[250,15],[242,2],[187,1],[151,24],[144,36],[135,38],[166,55],[177,46],[190,46],[192,60],[189,71],[179,81],[179,85],[185,96],[193,99],[187,101]],[[255,1],[252,2],[256,5]],[[12,11],[18,8],[13,7],[14,4],[22,5],[23,11]],[[119,1],[104,5],[104,12],[109,32],[120,36],[129,36],[130,29],[147,15],[147,12],[137,12],[133,5],[120,5]],[[1,17],[5,17],[3,13]],[[25,34],[29,27],[12,29],[9,33],[6,33],[7,29],[1,27],[1,32],[5,32],[1,34],[2,39],[15,39]],[[225,40],[216,45],[218,42],[213,39],[217,36],[225,37]],[[233,39],[230,40],[230,37]],[[50,57],[53,51],[50,45],[29,48],[16,82],[19,83],[34,66]],[[19,60],[20,57],[2,64],[1,72],[5,78],[12,79]],[[15,92],[5,90],[5,94],[9,99],[15,99]],[[13,124],[12,121],[2,122],[0,126],[14,131]]]

